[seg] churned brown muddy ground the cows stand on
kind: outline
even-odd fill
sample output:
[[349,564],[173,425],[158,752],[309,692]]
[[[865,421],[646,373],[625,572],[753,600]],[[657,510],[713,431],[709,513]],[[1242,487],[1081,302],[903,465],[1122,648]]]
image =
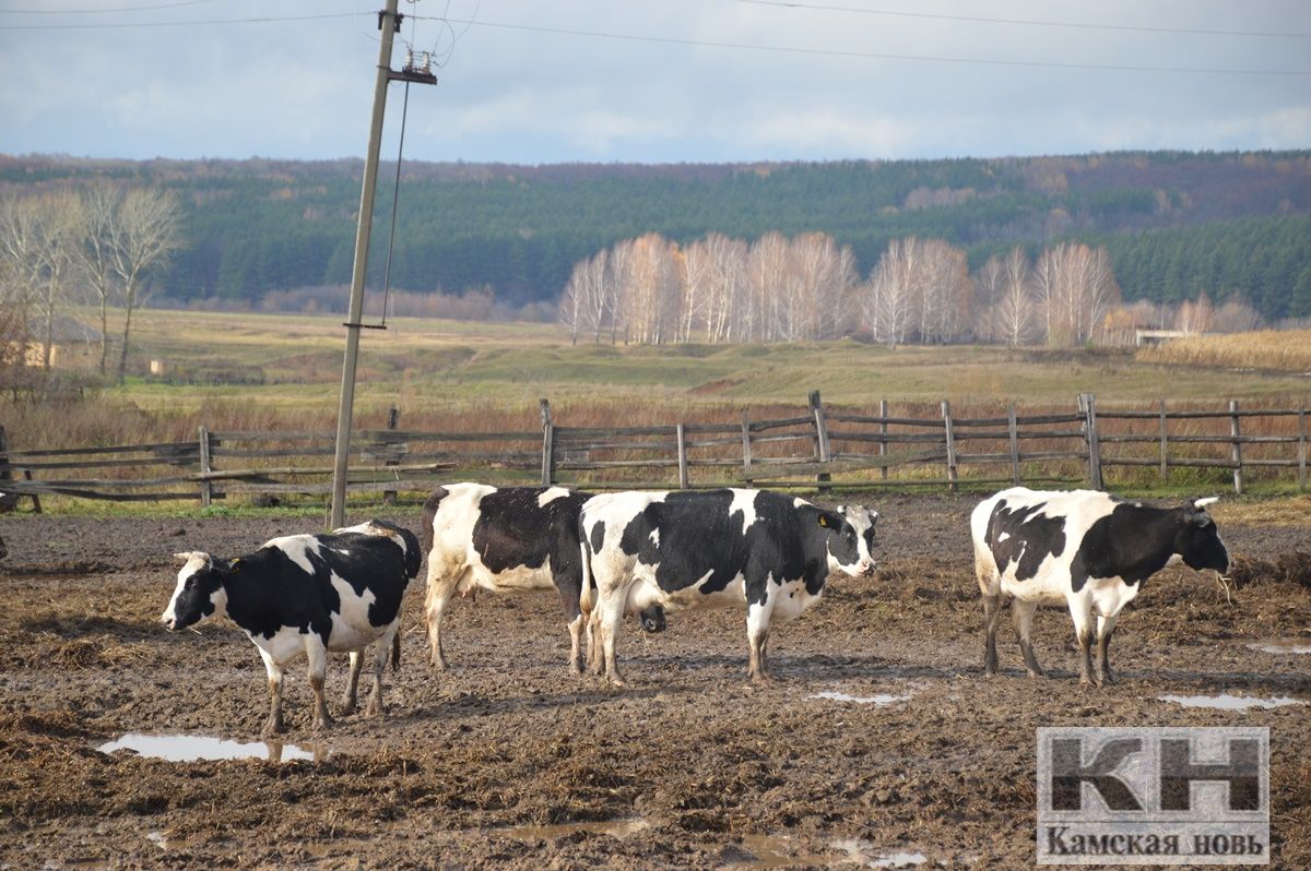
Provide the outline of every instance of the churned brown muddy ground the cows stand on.
[[[873,504],[877,576],[835,576],[822,602],[776,629],[771,685],[745,681],[738,610],[673,614],[652,637],[628,623],[629,686],[576,678],[551,595],[458,601],[454,668],[434,673],[416,584],[387,716],[316,735],[308,684],[292,673],[286,740],[321,758],[281,764],[94,748],[126,732],[258,739],[267,702],[254,647],[227,621],[176,635],[156,622],[169,555],[235,555],[312,524],[4,519],[0,866],[1021,868],[1034,859],[1037,727],[1243,724],[1270,727],[1272,866],[1311,868],[1311,709],[1158,699],[1311,698],[1311,655],[1248,647],[1311,644],[1311,589],[1259,579],[1230,600],[1213,576],[1165,570],[1121,617],[1118,685],[1076,684],[1070,621],[1055,609],[1036,631],[1051,677],[1024,676],[1004,623],[1006,673],[985,680],[974,499]],[[389,516],[418,523],[416,511]],[[1222,530],[1238,555],[1311,549],[1306,524]]]

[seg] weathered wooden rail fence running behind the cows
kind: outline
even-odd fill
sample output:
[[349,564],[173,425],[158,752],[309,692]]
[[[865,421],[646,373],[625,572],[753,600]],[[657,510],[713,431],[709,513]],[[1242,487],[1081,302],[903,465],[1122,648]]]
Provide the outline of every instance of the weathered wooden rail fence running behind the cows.
[[[800,409],[798,409],[800,410]],[[565,483],[591,490],[725,485],[877,489],[1011,483],[1105,486],[1105,473],[1151,468],[1291,477],[1306,487],[1306,409],[1104,410],[1080,394],[1070,411],[956,417],[826,407],[819,392],[794,417],[645,427],[569,427],[540,403],[540,430],[519,432],[357,431],[347,491],[426,494],[442,481]],[[0,503],[63,494],[113,500],[262,499],[332,490],[329,431],[211,432],[197,439],[90,448],[10,448],[0,427]],[[1214,472],[1211,472],[1214,475]],[[1227,474],[1226,474],[1227,477]],[[0,506],[3,507],[3,506]]]

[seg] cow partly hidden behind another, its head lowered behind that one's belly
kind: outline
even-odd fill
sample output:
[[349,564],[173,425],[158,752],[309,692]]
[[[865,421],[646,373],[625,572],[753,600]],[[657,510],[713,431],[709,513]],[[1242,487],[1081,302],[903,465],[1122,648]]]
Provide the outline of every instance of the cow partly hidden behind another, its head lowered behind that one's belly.
[[[442,614],[455,593],[556,589],[569,621],[569,668],[582,671],[578,510],[590,495],[568,487],[452,483],[429,496],[422,529],[427,554],[423,610],[435,668],[447,667]],[[665,629],[658,608],[644,612],[641,621],[646,631]]]

